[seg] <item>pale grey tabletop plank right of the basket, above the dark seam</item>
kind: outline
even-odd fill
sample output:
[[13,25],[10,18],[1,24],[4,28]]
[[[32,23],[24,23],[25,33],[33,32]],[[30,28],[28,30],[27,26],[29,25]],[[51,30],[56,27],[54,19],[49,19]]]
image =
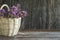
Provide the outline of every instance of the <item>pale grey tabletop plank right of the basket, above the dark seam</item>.
[[60,32],[19,32],[17,37],[60,38]]

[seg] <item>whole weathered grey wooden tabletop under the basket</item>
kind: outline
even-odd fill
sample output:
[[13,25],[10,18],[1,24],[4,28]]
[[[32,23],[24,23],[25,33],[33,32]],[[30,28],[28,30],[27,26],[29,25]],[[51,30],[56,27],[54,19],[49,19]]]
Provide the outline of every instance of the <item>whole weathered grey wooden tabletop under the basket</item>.
[[60,40],[60,32],[19,32],[15,37],[0,36],[0,40]]

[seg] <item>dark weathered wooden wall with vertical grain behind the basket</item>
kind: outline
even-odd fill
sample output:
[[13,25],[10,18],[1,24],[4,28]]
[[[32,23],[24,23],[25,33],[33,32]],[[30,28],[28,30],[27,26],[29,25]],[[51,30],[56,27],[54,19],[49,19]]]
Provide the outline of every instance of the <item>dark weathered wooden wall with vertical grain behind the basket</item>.
[[0,0],[0,6],[4,3],[20,3],[28,12],[22,19],[21,30],[60,29],[60,0]]

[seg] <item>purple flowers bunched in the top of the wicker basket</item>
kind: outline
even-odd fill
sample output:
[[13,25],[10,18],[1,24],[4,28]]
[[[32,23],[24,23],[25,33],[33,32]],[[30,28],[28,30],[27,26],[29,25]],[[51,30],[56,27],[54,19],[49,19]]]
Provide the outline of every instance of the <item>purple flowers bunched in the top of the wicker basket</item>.
[[[5,13],[7,13],[5,9],[0,10],[0,16],[4,17]],[[26,15],[27,15],[27,12],[19,10],[17,6],[12,6],[10,8],[10,11],[8,11],[8,17],[12,17],[12,18],[25,17]]]

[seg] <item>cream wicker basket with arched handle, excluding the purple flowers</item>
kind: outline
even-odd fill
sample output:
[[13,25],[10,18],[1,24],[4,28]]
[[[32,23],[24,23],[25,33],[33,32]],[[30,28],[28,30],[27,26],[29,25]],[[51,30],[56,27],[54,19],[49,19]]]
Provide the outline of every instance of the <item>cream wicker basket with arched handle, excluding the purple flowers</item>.
[[[9,11],[9,7],[7,4],[3,4],[0,9],[3,7],[7,7]],[[18,30],[21,24],[21,17],[20,18],[3,18],[0,17],[0,35],[4,36],[14,36],[17,35]]]

